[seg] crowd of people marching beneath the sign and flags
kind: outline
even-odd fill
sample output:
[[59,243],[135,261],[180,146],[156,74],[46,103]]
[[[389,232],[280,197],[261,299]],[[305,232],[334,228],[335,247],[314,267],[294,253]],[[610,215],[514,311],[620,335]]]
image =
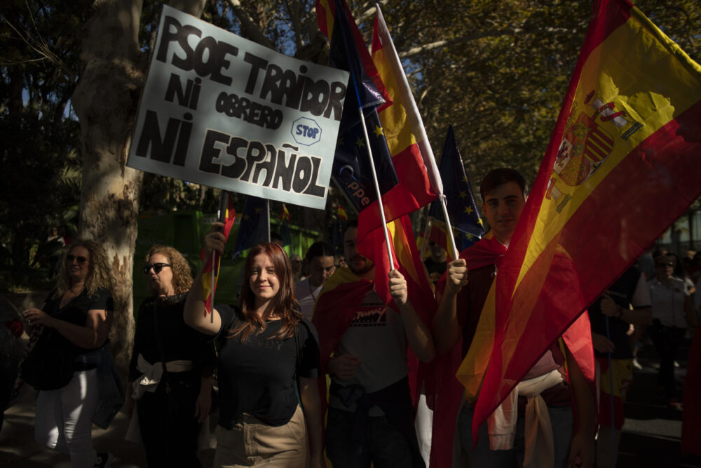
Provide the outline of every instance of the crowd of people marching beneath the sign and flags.
[[[400,272],[383,278],[358,251],[353,223],[343,258],[325,242],[314,243],[304,260],[288,257],[279,243],[254,246],[237,305],[207,307],[203,271],[193,279],[181,253],[154,246],[125,392],[109,354],[114,281],[104,250],[74,241],[46,304],[24,312],[30,340],[18,385],[39,390],[36,441],[69,453],[73,467],[109,466],[111,455],[93,450],[91,428],[109,424],[124,402],[127,437],[142,443],[149,467],[200,467],[214,410],[215,467],[322,467],[324,453],[336,468],[428,466],[431,422],[416,417],[416,401],[426,399],[416,398],[422,389],[411,376],[419,361],[430,366],[456,346],[467,354],[524,208],[526,181],[495,169],[480,194],[491,227],[484,238],[450,262],[430,246],[437,311],[428,320],[409,300]],[[224,252],[222,227],[215,222],[205,236],[205,256]],[[442,434],[454,439],[453,466],[615,466],[645,328],[660,354],[660,391],[670,408],[681,409],[674,364],[696,324],[691,294],[701,279],[675,274],[681,262],[667,252],[648,260],[652,271],[641,261],[590,307],[590,346],[566,337],[553,343],[479,426],[476,443],[474,401],[463,398],[454,431]],[[380,281],[391,300],[376,292]],[[592,350],[598,398],[581,370],[583,353]]]

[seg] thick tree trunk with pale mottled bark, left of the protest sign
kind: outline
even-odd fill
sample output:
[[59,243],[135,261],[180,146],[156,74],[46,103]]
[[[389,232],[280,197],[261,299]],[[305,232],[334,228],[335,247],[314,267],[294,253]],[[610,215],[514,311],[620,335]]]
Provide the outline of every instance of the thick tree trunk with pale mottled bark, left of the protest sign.
[[[204,1],[170,3],[200,15]],[[72,98],[83,139],[79,236],[100,241],[107,250],[116,280],[112,352],[125,369],[134,340],[132,270],[143,179],[125,164],[147,68],[138,40],[142,1],[97,0],[93,8],[83,37],[83,72]]]

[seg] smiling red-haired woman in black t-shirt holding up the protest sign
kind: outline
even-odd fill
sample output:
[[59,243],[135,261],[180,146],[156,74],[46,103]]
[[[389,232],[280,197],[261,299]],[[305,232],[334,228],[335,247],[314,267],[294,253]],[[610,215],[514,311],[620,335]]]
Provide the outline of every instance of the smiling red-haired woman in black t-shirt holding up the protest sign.
[[[223,226],[214,223],[205,236],[205,255],[224,251]],[[299,313],[290,259],[278,244],[260,243],[244,275],[238,307],[217,305],[208,314],[199,287],[185,304],[186,323],[221,345],[215,467],[304,467],[310,445],[311,466],[320,467],[319,345]]]

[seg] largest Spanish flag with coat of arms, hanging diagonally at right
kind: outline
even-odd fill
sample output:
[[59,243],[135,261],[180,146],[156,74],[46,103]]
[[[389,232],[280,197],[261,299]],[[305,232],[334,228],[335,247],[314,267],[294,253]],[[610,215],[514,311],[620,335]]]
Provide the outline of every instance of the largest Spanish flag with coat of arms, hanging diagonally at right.
[[477,395],[475,434],[563,330],[571,350],[586,349],[571,326],[700,196],[700,100],[701,67],[679,46],[629,1],[595,2],[482,312],[484,340],[473,345],[490,352],[468,353],[458,375]]

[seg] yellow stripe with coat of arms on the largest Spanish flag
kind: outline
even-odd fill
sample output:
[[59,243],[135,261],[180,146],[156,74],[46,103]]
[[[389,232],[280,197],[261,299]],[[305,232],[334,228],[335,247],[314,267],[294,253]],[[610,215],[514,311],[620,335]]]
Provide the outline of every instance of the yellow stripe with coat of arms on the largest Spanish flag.
[[701,67],[632,8],[585,62],[517,287],[613,168],[699,100]]

